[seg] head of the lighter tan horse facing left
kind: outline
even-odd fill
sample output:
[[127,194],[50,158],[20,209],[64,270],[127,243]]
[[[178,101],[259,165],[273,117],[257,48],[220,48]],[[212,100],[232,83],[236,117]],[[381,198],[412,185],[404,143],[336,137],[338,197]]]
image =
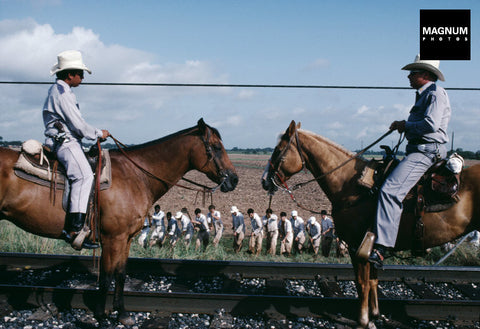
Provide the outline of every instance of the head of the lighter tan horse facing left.
[[299,128],[300,123],[295,125],[292,120],[267,163],[262,176],[262,186],[272,194],[305,165],[298,141]]

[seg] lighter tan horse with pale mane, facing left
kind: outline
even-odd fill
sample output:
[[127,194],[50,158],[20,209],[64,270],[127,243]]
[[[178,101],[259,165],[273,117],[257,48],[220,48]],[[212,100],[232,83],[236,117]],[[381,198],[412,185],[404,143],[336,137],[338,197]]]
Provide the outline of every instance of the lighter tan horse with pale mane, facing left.
[[[377,200],[368,196],[365,188],[357,183],[367,161],[354,158],[347,162],[355,155],[322,136],[299,128],[300,124],[295,126],[292,121],[281,137],[267,165],[263,187],[274,192],[276,186],[286,186],[285,182],[291,176],[306,167],[332,203],[337,234],[354,251],[375,220]],[[344,165],[339,167],[341,164]],[[480,228],[480,165],[465,169],[461,182],[458,203],[442,212],[424,214],[425,248],[441,245]],[[403,214],[396,250],[412,248],[414,223],[413,215]],[[365,327],[369,323],[369,308],[372,316],[380,315],[377,270],[358,259],[355,252],[350,255],[360,298],[359,324]]]

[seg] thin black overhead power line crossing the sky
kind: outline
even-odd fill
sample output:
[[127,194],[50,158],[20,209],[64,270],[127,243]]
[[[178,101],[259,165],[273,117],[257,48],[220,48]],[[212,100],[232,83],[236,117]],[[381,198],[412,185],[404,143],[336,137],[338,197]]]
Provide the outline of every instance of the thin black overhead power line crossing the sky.
[[[50,85],[51,81],[0,81],[11,85]],[[213,87],[213,88],[298,88],[298,89],[383,89],[406,90],[411,87],[388,86],[334,86],[334,85],[282,85],[282,84],[226,84],[226,83],[142,83],[142,82],[84,82],[89,86],[135,86],[135,87]],[[445,88],[447,90],[480,91],[480,88]]]

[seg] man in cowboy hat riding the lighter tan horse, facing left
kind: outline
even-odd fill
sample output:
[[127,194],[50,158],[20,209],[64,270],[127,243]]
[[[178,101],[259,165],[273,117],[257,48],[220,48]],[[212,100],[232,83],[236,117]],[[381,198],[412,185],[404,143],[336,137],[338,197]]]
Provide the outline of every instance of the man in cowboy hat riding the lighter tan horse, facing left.
[[415,104],[405,121],[394,121],[390,129],[405,132],[406,156],[385,180],[378,199],[376,241],[369,261],[382,268],[385,251],[395,247],[402,215],[402,202],[422,175],[438,160],[445,158],[447,126],[451,109],[447,92],[436,85],[445,81],[439,61],[415,61],[402,68],[410,71],[410,86],[417,89]]

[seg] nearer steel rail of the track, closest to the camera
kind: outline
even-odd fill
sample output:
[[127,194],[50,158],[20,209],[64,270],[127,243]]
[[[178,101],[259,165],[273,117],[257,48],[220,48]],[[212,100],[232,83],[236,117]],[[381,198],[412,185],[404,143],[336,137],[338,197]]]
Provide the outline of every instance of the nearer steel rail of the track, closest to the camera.
[[[0,285],[0,301],[17,309],[48,307],[52,303],[63,309],[93,309],[96,292],[96,289]],[[107,305],[112,305],[112,300],[111,291]],[[480,320],[480,301],[379,298],[379,304],[384,314],[395,319]],[[235,316],[264,314],[268,317],[322,316],[337,314],[341,310],[343,316],[355,318],[358,300],[348,297],[125,291],[125,307],[131,312],[203,314],[215,314],[218,309],[223,309]]]

